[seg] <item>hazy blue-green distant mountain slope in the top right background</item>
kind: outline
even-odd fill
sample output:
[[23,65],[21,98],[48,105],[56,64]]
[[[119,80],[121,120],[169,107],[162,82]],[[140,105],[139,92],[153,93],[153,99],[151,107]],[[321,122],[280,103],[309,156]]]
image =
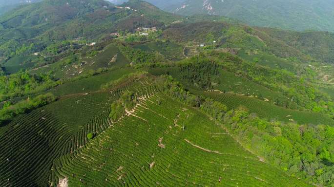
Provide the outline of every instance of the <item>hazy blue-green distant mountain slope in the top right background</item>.
[[333,8],[332,0],[185,0],[169,11],[227,16],[262,27],[334,31]]

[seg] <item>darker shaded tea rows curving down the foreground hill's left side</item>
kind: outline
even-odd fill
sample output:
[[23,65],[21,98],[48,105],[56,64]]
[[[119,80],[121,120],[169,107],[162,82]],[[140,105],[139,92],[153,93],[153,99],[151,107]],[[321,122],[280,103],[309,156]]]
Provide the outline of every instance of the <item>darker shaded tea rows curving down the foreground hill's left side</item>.
[[[157,92],[147,81],[138,83],[127,83],[126,90],[139,97]],[[112,125],[110,104],[124,89],[65,95],[1,127],[0,186],[49,186],[57,181],[51,172],[54,160],[82,148],[88,133],[98,135]]]

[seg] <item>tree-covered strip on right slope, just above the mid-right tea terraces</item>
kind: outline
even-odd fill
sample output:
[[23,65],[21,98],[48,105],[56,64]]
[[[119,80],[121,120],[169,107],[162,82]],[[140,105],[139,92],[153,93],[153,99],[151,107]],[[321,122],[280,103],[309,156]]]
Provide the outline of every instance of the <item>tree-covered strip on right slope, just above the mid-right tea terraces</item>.
[[[225,70],[249,78],[253,82],[259,83],[273,91],[283,93],[288,98],[291,98],[291,101],[308,110],[323,112],[333,116],[332,100],[313,84],[316,78],[310,68],[305,68],[303,74],[298,77],[287,70],[259,66],[229,54],[213,52],[210,53],[210,56],[220,61]],[[291,103],[287,107],[295,109],[297,106]]]

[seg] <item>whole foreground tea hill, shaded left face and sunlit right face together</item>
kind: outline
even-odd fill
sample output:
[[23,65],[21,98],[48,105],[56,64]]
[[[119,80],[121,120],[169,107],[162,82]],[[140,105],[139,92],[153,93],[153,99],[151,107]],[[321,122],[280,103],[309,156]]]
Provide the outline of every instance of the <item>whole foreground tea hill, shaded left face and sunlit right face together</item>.
[[[118,89],[63,95],[17,118],[0,139],[0,185],[57,186],[65,178],[71,187],[310,186],[172,99],[159,80],[143,77]],[[137,104],[114,120],[110,105],[127,93]]]

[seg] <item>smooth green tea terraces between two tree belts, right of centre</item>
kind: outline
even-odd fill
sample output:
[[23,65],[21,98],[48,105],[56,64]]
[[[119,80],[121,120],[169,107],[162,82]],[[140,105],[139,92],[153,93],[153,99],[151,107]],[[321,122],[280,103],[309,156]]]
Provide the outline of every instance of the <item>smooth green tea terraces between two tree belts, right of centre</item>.
[[[334,120],[326,115],[315,112],[301,112],[277,106],[277,102],[286,102],[289,99],[280,93],[275,93],[268,88],[257,85],[251,81],[244,80],[234,74],[221,70],[219,84],[214,92],[199,91],[201,87],[181,78],[177,69],[153,68],[149,70],[153,75],[169,74],[183,82],[191,93],[205,95],[215,101],[225,104],[229,110],[240,106],[246,107],[251,113],[268,120],[279,120],[283,122],[297,122],[299,124],[327,124],[334,125]],[[224,93],[225,92],[225,93]],[[257,93],[261,95],[256,95]],[[272,102],[275,100],[276,102]]]

